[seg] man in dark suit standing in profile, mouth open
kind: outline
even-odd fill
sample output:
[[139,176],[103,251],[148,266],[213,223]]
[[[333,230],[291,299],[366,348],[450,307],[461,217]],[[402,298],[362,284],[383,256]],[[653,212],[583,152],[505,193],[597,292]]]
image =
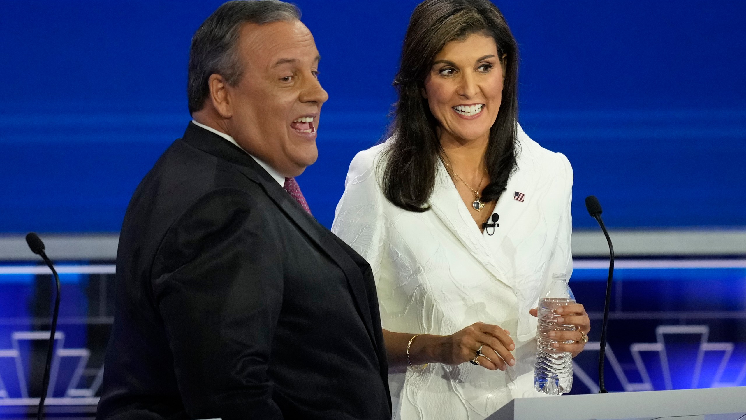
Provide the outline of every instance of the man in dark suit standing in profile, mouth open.
[[98,419],[390,419],[369,265],[310,215],[327,99],[291,4],[195,33],[189,123],[122,226]]

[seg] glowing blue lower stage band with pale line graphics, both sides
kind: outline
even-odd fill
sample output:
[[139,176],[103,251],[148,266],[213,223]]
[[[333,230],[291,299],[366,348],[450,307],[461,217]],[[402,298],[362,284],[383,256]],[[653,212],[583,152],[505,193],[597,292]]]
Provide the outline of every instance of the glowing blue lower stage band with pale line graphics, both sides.
[[[603,260],[579,259],[570,282],[598,338]],[[60,265],[63,303],[47,404],[98,403],[103,354],[113,321],[113,265]],[[620,260],[606,348],[611,392],[740,386],[746,379],[746,260]],[[51,284],[39,265],[0,267],[0,406],[38,401],[46,353],[43,307]],[[725,297],[725,298],[724,298]],[[48,310],[48,309],[47,309]],[[571,393],[598,392],[598,342],[574,360]],[[37,363],[38,365],[38,363]],[[0,409],[0,414],[3,413]]]

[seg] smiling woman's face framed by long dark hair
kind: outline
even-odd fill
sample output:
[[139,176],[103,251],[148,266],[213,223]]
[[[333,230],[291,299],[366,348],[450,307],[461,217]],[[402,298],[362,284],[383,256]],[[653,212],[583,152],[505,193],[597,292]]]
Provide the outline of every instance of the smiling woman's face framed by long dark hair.
[[471,34],[445,44],[422,96],[444,132],[457,140],[489,137],[502,101],[504,70],[492,37]]

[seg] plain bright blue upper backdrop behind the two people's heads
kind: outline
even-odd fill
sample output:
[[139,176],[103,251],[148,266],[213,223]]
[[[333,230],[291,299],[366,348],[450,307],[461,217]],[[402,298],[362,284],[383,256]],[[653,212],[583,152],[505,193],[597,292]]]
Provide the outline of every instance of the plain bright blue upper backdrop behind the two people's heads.
[[[221,1],[0,1],[0,232],[117,232],[178,138],[192,33]],[[409,0],[298,0],[330,94],[298,182],[330,226],[380,140]],[[613,227],[746,225],[746,2],[499,1],[521,45],[526,132]]]

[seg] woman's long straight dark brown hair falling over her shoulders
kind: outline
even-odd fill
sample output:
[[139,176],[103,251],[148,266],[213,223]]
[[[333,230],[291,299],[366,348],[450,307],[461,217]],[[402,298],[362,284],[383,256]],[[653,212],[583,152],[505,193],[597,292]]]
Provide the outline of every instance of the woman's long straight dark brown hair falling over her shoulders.
[[[495,39],[505,70],[498,117],[489,130],[485,163],[489,184],[481,193],[489,203],[505,191],[515,168],[518,117],[518,46],[500,10],[489,0],[426,0],[412,13],[401,67],[394,80],[399,99],[389,129],[392,145],[384,155],[383,194],[395,206],[427,211],[435,187],[439,155],[438,121],[421,95],[435,56],[446,43],[484,33]],[[505,56],[505,58],[503,58]]]

